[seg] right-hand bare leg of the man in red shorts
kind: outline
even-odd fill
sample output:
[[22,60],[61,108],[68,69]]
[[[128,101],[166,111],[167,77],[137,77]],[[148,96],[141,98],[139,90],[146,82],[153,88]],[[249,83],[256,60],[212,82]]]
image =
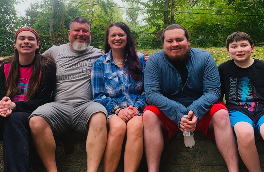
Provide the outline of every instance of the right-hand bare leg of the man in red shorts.
[[220,109],[212,116],[209,128],[214,128],[215,142],[228,167],[228,171],[239,171],[238,155],[228,111]]

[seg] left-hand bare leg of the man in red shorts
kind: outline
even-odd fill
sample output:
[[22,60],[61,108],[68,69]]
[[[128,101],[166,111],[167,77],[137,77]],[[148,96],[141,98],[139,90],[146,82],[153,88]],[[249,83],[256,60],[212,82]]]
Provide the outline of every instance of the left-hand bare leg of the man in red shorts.
[[162,128],[164,125],[152,111],[143,114],[144,148],[149,172],[160,171],[160,157],[164,147]]

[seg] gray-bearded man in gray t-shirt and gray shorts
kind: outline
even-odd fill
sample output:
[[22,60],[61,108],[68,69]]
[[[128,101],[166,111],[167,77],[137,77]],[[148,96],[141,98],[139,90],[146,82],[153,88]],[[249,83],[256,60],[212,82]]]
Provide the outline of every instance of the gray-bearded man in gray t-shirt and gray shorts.
[[47,171],[56,172],[54,136],[71,129],[87,134],[87,171],[97,171],[107,141],[107,110],[92,101],[91,69],[102,50],[90,46],[90,24],[83,17],[70,22],[70,43],[49,48],[57,65],[54,102],[29,117],[36,150]]

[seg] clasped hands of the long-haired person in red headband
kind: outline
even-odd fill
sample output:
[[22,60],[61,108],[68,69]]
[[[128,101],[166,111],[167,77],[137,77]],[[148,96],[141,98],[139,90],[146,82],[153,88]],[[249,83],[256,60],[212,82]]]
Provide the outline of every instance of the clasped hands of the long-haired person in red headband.
[[8,117],[12,113],[12,109],[15,108],[15,103],[11,101],[9,97],[3,97],[0,101],[0,115],[2,117]]

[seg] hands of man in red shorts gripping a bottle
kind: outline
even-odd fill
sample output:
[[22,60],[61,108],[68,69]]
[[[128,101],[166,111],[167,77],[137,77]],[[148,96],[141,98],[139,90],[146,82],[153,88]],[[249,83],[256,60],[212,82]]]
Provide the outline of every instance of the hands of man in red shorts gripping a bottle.
[[[190,120],[192,119],[192,120]],[[194,132],[196,128],[196,123],[197,123],[197,117],[194,114],[194,111],[189,111],[187,115],[187,119],[182,117],[181,122],[180,122],[180,130],[184,132],[184,129],[186,131]]]

